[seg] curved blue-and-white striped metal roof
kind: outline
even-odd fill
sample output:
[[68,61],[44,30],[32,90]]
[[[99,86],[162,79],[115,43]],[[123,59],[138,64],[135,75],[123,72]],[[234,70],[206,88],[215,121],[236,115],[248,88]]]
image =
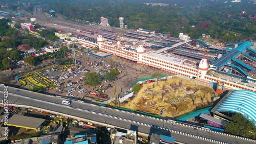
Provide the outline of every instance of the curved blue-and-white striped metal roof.
[[216,109],[218,112],[241,113],[256,127],[256,92],[250,90],[234,90]]

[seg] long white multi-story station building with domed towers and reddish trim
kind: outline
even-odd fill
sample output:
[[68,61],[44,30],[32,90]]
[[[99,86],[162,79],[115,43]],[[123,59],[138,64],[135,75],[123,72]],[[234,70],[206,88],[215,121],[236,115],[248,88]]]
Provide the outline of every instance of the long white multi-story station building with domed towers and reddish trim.
[[[197,79],[199,81],[203,80],[202,82],[206,83],[208,83],[207,81],[219,81],[219,78],[207,75],[208,61],[205,57],[200,61],[199,66],[197,67],[196,64],[191,63],[184,58],[178,58],[152,51],[145,52],[142,44],[140,44],[136,50],[130,50],[121,45],[120,42],[109,44],[101,35],[98,35],[97,42],[99,50],[105,53],[110,53],[118,57],[169,71],[170,73],[178,74],[191,79]],[[248,87],[231,81],[225,81],[225,86],[235,89],[248,89],[252,91],[255,91],[256,88]]]

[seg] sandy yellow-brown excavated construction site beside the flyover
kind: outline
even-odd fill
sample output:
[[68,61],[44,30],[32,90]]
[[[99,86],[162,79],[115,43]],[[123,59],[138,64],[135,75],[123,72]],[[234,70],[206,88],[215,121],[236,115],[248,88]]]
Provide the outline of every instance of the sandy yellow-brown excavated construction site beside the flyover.
[[210,86],[194,80],[173,77],[159,81],[158,84],[143,83],[140,91],[122,102],[120,107],[163,117],[176,117],[211,106],[215,97],[218,97],[218,94]]

